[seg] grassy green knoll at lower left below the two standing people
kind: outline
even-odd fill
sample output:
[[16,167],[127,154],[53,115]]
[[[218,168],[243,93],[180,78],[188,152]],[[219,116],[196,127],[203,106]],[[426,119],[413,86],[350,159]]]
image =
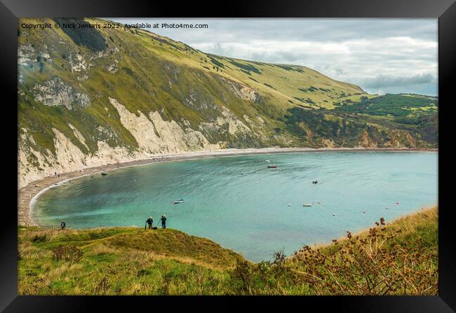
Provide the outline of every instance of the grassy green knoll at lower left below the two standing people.
[[[61,244],[77,246],[82,259],[54,260]],[[19,228],[19,251],[20,294],[207,294],[242,258],[170,229]]]

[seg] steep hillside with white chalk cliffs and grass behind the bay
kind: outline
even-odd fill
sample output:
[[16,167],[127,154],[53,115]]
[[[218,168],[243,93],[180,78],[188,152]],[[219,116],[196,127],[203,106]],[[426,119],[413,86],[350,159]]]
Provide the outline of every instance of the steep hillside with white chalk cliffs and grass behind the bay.
[[142,30],[18,28],[18,35],[19,187],[162,153],[433,145],[434,135],[425,140],[337,111],[373,96],[307,67],[208,55]]

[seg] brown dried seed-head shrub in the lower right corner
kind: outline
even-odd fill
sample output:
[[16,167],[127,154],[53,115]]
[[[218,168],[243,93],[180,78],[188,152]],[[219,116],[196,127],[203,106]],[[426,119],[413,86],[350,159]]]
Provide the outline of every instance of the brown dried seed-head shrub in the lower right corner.
[[387,232],[383,218],[375,224],[366,237],[334,239],[330,251],[304,246],[295,253],[304,281],[317,295],[437,294],[436,249],[401,246],[393,239],[401,229]]

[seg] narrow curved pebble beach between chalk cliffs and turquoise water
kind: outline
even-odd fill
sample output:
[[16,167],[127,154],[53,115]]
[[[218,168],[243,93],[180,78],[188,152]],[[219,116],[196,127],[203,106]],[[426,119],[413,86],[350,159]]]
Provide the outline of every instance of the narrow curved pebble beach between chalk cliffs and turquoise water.
[[246,149],[220,149],[215,151],[192,151],[186,153],[173,153],[154,155],[148,159],[120,162],[88,167],[79,171],[66,172],[59,176],[47,176],[43,179],[31,181],[18,190],[18,225],[39,225],[32,219],[32,210],[36,199],[49,188],[60,186],[62,183],[78,179],[84,176],[109,172],[113,169],[149,165],[159,162],[176,162],[184,160],[198,160],[202,158],[218,158],[238,155],[260,155],[274,153],[302,153],[302,152],[438,152],[438,148],[415,149],[415,148],[246,148]]

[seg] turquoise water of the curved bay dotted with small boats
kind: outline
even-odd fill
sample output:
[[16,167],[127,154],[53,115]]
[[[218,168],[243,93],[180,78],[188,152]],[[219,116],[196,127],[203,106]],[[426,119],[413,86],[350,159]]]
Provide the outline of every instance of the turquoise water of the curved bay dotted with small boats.
[[[268,169],[265,160],[278,168]],[[248,155],[163,162],[69,181],[40,195],[34,218],[72,228],[144,227],[150,215],[157,223],[166,214],[169,228],[259,261],[281,249],[290,254],[304,244],[330,242],[380,217],[388,222],[436,204],[437,196],[437,153]],[[181,197],[184,203],[170,203]],[[312,207],[302,206],[309,202]]]

